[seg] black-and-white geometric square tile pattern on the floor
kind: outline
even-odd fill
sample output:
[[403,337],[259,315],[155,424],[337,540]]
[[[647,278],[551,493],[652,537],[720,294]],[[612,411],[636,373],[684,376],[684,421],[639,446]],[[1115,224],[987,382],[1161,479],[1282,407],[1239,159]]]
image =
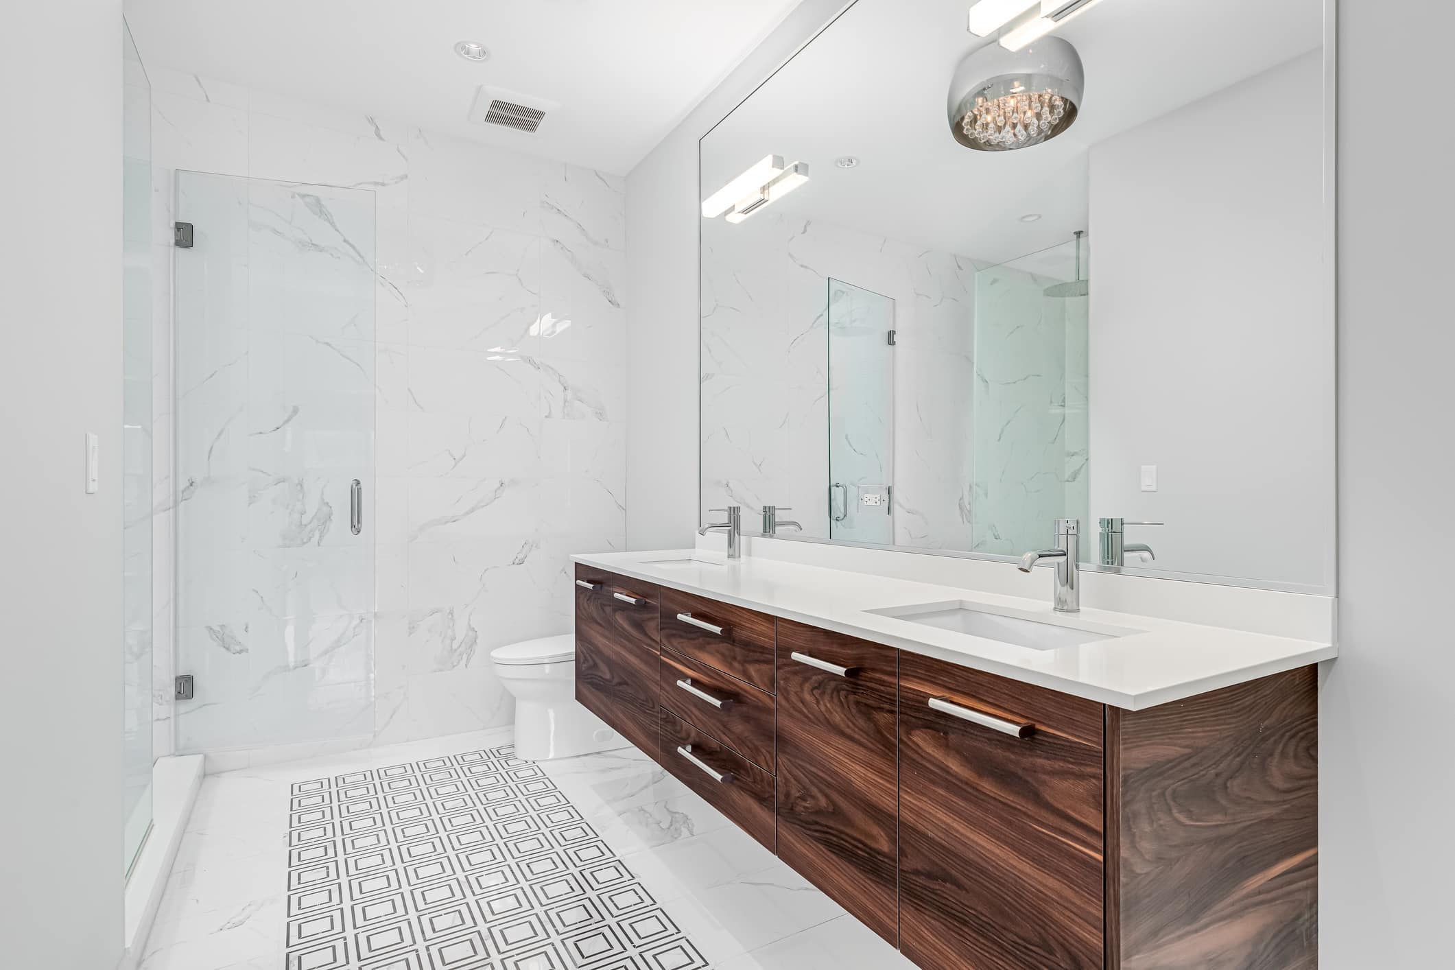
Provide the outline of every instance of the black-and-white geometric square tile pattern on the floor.
[[285,970],[701,970],[512,745],[292,784]]

